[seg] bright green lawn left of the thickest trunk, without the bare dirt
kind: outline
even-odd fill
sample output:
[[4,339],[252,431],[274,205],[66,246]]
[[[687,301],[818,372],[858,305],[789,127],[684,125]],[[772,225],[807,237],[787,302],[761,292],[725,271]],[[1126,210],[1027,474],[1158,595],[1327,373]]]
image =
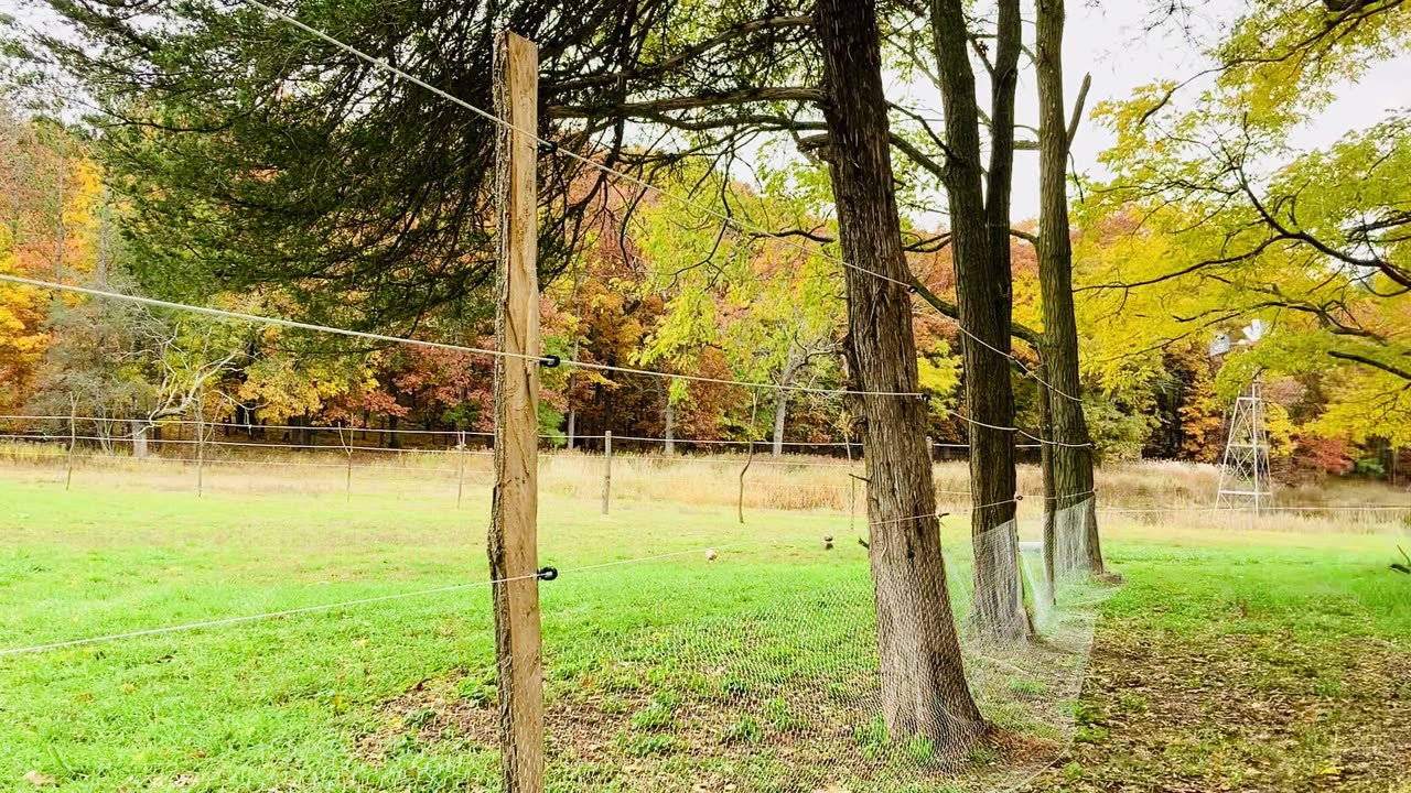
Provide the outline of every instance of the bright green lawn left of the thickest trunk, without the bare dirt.
[[[426,498],[0,481],[0,648],[444,587],[487,570],[483,498],[454,511]],[[830,621],[813,618],[804,642],[769,628],[779,610],[835,612],[838,588],[865,583],[861,549],[824,557],[813,542],[835,525],[769,515],[741,526],[724,509],[632,504],[602,518],[546,500],[542,562],[563,571],[542,587],[550,693],[573,682],[629,698],[693,686],[738,698],[838,667],[835,639],[865,622],[840,619],[830,636]],[[779,545],[804,536],[817,550]],[[810,555],[823,563],[800,564]],[[73,790],[491,787],[498,759],[471,741],[402,732],[377,762],[358,746],[388,731],[385,704],[422,682],[453,679],[459,698],[494,701],[488,598],[471,587],[0,658],[0,780],[38,769]],[[713,676],[693,680],[703,652]],[[629,751],[667,753],[670,738],[634,735]]]

